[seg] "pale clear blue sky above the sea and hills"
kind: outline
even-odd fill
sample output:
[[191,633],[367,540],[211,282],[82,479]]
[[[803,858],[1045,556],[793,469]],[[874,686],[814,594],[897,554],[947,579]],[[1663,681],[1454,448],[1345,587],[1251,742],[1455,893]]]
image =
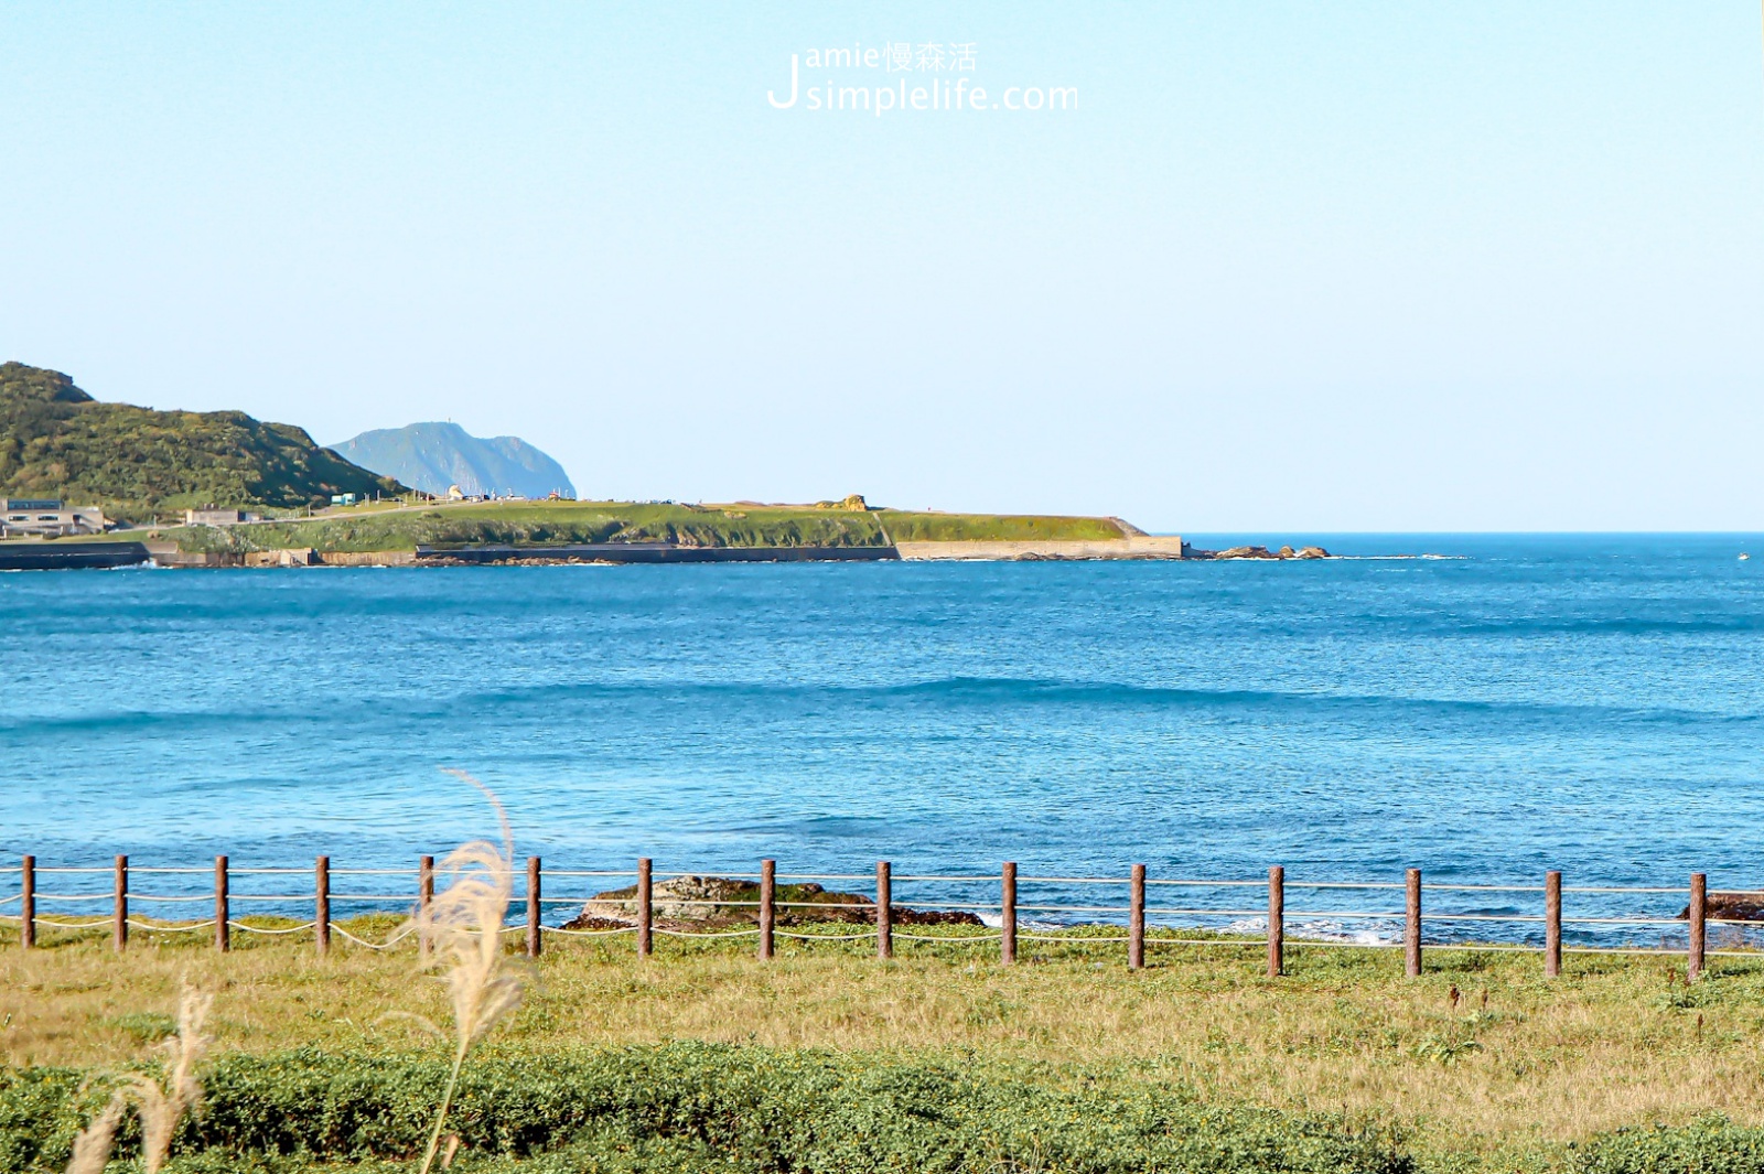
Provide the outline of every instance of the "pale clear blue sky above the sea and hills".
[[0,358],[584,497],[1757,531],[1759,21],[9,4]]

